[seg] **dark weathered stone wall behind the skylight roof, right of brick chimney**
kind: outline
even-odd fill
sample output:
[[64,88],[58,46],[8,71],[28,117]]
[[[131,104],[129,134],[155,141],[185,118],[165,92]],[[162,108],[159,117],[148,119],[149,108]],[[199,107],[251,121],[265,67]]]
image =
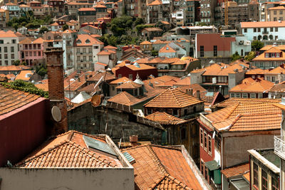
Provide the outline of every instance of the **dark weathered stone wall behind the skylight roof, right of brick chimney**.
[[[108,125],[106,126],[106,123]],[[137,122],[137,116],[107,107],[93,107],[90,102],[68,111],[68,130],[88,134],[108,134],[114,142],[129,142],[131,135],[139,141],[162,143],[164,130]]]

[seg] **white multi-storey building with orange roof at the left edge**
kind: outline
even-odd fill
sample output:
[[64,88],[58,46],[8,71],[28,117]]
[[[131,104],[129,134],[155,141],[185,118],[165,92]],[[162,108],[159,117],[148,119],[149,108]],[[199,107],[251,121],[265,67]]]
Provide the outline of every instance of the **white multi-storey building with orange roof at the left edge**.
[[12,65],[18,56],[21,37],[13,31],[0,31],[0,65]]

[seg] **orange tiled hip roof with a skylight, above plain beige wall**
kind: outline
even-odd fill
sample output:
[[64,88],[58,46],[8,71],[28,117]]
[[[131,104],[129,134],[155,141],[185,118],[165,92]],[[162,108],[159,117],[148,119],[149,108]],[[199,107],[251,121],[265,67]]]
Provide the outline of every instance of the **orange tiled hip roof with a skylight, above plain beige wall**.
[[16,164],[22,168],[46,167],[121,167],[118,159],[108,157],[86,146],[83,135],[100,142],[105,142],[101,137],[69,131],[58,135],[55,139],[41,144],[26,159]]

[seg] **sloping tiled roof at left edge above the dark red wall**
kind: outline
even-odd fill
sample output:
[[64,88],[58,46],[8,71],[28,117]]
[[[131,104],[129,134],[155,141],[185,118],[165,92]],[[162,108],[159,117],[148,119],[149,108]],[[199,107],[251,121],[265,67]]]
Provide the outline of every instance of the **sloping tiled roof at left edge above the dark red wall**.
[[0,85],[0,115],[16,110],[40,98],[38,95],[5,88]]

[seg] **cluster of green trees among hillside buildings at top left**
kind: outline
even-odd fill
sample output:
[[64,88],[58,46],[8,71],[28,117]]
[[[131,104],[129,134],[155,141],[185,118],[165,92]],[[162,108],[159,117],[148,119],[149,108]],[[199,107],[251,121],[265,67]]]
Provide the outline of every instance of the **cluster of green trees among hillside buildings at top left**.
[[52,22],[51,16],[46,16],[45,19],[35,19],[33,16],[33,11],[26,11],[23,16],[21,16],[19,19],[14,17],[11,19],[7,25],[12,26],[17,30],[18,28],[21,28],[22,26],[25,26],[26,28],[39,28],[42,24],[50,24]]

